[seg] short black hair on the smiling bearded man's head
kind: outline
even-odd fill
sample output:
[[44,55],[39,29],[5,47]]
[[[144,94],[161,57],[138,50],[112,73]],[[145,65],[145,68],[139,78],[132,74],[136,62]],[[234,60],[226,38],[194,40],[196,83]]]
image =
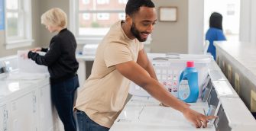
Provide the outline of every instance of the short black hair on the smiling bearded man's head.
[[125,14],[132,15],[139,11],[141,7],[154,8],[154,3],[151,0],[128,0]]

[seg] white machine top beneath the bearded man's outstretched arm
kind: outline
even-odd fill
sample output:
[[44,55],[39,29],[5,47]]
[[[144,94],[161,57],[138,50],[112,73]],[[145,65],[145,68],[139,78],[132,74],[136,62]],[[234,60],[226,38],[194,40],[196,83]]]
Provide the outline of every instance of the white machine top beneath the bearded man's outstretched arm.
[[[198,130],[182,113],[159,104],[153,97],[131,97],[110,130]],[[191,104],[191,108],[205,113],[208,104],[198,100]],[[202,130],[215,129],[209,125]]]

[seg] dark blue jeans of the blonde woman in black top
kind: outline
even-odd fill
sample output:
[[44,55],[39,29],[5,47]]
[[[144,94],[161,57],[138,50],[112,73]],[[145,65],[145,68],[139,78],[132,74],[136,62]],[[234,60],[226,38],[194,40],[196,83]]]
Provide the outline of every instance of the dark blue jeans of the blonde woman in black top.
[[76,131],[76,120],[73,116],[73,104],[76,88],[79,87],[77,75],[66,81],[50,85],[51,97],[65,131]]

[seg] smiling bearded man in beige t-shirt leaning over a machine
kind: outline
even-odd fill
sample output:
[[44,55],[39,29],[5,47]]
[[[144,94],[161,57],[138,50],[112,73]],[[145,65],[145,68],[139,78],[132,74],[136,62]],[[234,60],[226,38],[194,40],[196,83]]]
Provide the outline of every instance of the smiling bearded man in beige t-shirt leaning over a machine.
[[79,131],[109,130],[122,111],[130,80],[163,104],[180,110],[196,127],[207,126],[206,117],[173,97],[157,81],[143,44],[154,29],[157,12],[151,0],[128,0],[125,21],[118,21],[99,43],[92,74],[79,90],[76,115]]

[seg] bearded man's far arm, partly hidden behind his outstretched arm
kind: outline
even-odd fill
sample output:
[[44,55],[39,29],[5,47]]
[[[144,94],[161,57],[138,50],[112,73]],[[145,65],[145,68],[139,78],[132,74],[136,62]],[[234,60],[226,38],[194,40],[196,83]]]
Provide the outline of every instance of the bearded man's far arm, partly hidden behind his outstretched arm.
[[144,51],[144,49],[139,51],[137,63],[138,65],[141,65],[141,67],[145,69],[149,75],[151,75],[151,78],[154,78],[155,80],[157,80],[157,75],[154,72],[154,67],[151,64],[151,61],[148,60],[147,53]]

